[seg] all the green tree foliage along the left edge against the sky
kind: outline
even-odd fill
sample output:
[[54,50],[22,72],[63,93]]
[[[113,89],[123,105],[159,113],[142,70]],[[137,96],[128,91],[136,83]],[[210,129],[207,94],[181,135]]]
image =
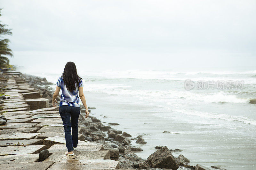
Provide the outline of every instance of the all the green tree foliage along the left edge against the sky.
[[[0,8],[0,17],[1,17],[2,8]],[[9,48],[8,43],[10,42],[9,39],[2,39],[4,35],[12,35],[11,30],[6,28],[6,24],[2,24],[0,20],[0,68],[12,68],[13,66],[9,64],[9,59],[7,56],[12,57],[12,50]]]

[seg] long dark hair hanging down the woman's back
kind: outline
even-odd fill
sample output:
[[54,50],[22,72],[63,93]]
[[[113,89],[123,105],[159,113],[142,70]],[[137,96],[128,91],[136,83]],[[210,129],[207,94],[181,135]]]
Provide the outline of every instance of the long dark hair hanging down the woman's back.
[[[68,91],[72,92],[79,86],[79,79],[80,77],[77,75],[76,72],[76,64],[73,62],[68,62],[65,65],[64,71],[62,73],[62,78],[64,84],[66,85]],[[81,80],[83,80],[81,78]]]

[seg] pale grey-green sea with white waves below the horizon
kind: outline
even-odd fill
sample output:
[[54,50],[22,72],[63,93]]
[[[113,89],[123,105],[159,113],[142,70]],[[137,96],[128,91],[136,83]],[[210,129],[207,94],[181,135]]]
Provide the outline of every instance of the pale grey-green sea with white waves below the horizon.
[[[56,83],[57,73],[23,73]],[[190,165],[256,169],[256,68],[80,71],[91,115],[147,144],[190,160]],[[52,86],[55,88],[55,85]],[[163,133],[167,131],[167,133]]]

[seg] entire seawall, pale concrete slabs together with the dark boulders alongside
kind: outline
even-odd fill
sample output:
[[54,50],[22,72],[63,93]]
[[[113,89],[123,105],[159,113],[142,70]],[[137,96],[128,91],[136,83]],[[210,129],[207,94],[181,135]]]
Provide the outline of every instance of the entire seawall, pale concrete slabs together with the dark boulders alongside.
[[[174,151],[164,146],[158,146],[156,149],[159,150],[148,159],[141,159],[134,152],[142,149],[132,146],[131,140],[146,143],[142,136],[131,138],[128,133],[114,129],[118,123],[106,126],[96,117],[85,119],[83,109],[78,122],[78,147],[74,156],[66,156],[63,154],[67,149],[59,108],[51,106],[52,84],[45,78],[11,72],[3,75],[1,85],[1,113],[7,120],[0,126],[1,167],[33,169],[40,165],[43,169],[74,169],[79,165],[80,169],[208,169],[187,165],[188,159],[183,155],[175,158]],[[92,112],[95,109],[89,108]],[[40,162],[39,152],[45,149],[51,155]]]

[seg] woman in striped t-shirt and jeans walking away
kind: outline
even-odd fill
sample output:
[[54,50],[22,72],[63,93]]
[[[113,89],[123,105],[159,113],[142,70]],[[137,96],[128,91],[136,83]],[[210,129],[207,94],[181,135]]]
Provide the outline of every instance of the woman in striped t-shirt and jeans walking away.
[[[78,117],[80,115],[80,101],[79,97],[85,107],[85,117],[89,115],[88,107],[86,105],[84,92],[83,92],[83,81],[76,73],[76,65],[73,62],[68,62],[64,68],[61,77],[56,83],[56,90],[52,98],[52,106],[56,107],[58,104],[56,98],[59,95],[61,89],[60,97],[60,116],[64,125],[66,146],[68,152],[66,155],[74,155],[74,148],[77,147],[78,143]],[[71,121],[70,121],[71,120]],[[72,135],[71,135],[72,127]]]

